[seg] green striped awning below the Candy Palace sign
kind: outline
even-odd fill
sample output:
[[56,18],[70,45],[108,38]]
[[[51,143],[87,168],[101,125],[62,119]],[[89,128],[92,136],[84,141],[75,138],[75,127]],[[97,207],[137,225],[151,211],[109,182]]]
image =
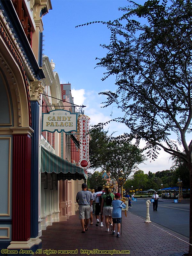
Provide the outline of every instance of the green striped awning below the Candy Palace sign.
[[57,173],[58,180],[87,179],[84,169],[41,147],[41,172]]

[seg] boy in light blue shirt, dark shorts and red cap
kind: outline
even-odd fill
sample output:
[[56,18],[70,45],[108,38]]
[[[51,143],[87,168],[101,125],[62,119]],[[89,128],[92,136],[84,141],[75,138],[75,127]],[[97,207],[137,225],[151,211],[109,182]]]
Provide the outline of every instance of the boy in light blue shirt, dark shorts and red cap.
[[116,237],[120,237],[120,228],[121,228],[121,212],[122,208],[126,208],[126,204],[120,201],[121,194],[115,194],[115,200],[112,201],[113,211],[112,211],[112,219],[113,219],[113,231],[112,235],[115,236],[115,226],[117,224],[117,235]]

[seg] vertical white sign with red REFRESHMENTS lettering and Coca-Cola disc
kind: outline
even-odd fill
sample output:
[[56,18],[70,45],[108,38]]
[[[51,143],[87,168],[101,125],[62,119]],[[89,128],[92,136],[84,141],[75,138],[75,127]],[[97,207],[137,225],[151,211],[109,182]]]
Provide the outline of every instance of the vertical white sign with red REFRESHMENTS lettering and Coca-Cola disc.
[[89,162],[89,116],[79,116],[79,133],[80,133],[80,160],[79,167],[84,170],[90,166]]

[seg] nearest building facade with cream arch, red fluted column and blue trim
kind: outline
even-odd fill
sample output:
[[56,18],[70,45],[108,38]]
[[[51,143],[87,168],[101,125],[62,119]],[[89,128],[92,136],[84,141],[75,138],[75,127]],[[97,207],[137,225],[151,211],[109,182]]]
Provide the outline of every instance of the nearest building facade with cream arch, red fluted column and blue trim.
[[[47,1],[0,1],[0,247],[38,247],[36,134],[33,115],[41,92],[42,18],[52,9]],[[36,208],[36,207],[35,207]],[[38,210],[35,209],[35,211]]]

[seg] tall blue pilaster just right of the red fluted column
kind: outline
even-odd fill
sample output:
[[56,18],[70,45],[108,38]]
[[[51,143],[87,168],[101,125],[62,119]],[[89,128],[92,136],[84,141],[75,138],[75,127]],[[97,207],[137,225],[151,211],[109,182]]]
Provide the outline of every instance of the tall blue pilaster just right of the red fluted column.
[[31,148],[31,237],[38,236],[38,157],[39,157],[39,103],[31,101],[32,136]]

